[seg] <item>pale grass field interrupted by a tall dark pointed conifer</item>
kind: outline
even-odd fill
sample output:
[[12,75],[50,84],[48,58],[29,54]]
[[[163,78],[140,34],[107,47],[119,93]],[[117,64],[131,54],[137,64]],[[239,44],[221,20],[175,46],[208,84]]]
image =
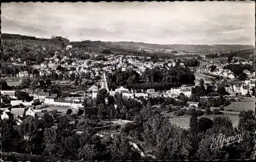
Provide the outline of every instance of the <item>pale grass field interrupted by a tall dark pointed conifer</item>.
[[[218,116],[222,116],[222,117],[228,117],[233,126],[238,126],[238,122],[239,122],[239,116],[238,115],[230,115],[230,114],[224,114],[224,115],[202,115],[200,117],[198,117],[198,119],[202,118],[202,117],[206,117],[206,118],[209,118],[211,120],[213,120],[215,117],[218,117]],[[172,124],[176,124],[184,129],[188,129],[189,128],[189,121],[190,121],[190,117],[189,116],[184,116],[181,117],[181,118],[169,118],[169,121],[172,123]]]

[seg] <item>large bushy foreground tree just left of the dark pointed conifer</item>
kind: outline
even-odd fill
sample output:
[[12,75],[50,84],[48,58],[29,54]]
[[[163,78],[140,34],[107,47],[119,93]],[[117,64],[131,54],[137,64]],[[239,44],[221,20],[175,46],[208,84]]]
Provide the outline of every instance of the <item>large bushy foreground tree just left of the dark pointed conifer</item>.
[[179,127],[169,123],[160,115],[153,115],[143,123],[144,142],[153,148],[157,159],[187,159],[188,141]]

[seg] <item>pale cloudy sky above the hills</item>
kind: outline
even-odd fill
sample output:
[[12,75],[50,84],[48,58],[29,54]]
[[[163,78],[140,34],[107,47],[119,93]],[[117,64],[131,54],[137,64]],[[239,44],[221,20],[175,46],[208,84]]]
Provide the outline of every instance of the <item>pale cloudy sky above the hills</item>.
[[1,32],[70,41],[255,44],[255,3],[2,3]]

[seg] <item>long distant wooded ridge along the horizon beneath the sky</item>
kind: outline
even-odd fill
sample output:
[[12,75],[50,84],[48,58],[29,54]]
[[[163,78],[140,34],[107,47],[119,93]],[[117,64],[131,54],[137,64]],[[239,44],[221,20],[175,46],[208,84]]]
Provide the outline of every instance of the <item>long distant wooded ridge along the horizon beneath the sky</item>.
[[69,42],[69,40],[61,37],[56,37],[52,39],[41,39],[30,36],[22,36],[17,34],[2,34],[2,41],[12,41],[18,40],[22,44],[40,44],[41,46],[53,46],[57,45],[58,48],[62,47],[64,44],[59,42],[65,42],[65,44],[72,44],[77,48],[87,48],[88,51],[94,50],[97,52],[103,49],[111,49],[112,51],[138,51],[143,49],[146,51],[180,51],[180,52],[195,52],[195,53],[211,53],[211,52],[229,52],[229,51],[240,51],[246,49],[254,49],[254,45],[225,45],[225,44],[150,44],[141,42],[102,42],[102,41],[79,41],[79,42]]

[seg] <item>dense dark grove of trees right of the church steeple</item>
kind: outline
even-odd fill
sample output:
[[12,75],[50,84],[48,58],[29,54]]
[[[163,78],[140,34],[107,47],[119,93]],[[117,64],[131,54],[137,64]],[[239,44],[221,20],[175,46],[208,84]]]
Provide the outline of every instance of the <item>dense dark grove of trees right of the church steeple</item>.
[[195,84],[195,75],[188,68],[175,66],[170,70],[154,67],[146,68],[142,76],[133,70],[115,70],[108,74],[109,89],[115,90],[117,86],[125,86],[129,89],[147,90],[154,88],[158,90],[168,90],[173,87],[180,87],[186,84]]

